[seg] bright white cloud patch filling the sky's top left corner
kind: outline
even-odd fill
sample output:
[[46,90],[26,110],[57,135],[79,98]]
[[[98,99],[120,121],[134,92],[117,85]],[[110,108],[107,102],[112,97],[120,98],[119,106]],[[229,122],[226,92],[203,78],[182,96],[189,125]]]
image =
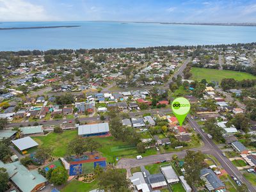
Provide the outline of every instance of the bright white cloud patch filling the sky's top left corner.
[[44,6],[26,0],[0,0],[0,21],[56,20],[45,12]]

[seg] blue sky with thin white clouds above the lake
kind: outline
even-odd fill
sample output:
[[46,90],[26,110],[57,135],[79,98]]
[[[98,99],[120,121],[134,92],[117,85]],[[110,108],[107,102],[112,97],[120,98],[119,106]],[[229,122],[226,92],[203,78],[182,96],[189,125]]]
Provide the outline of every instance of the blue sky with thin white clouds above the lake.
[[0,0],[0,21],[256,22],[255,0]]

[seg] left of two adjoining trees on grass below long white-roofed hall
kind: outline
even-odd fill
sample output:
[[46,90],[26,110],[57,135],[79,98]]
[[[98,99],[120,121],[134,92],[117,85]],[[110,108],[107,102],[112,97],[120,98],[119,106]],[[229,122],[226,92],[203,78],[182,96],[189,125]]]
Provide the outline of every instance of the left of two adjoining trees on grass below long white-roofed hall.
[[86,145],[83,138],[77,137],[68,143],[68,150],[70,154],[76,154],[77,157],[86,152]]

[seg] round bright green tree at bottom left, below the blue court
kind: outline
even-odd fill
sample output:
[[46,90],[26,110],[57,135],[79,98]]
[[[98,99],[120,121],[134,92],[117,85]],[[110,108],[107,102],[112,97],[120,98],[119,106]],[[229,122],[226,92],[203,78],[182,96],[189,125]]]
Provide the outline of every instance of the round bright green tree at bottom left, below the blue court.
[[67,182],[67,179],[68,179],[67,170],[65,170],[63,166],[59,166],[52,171],[50,181],[54,185],[60,186],[61,184],[65,184]]

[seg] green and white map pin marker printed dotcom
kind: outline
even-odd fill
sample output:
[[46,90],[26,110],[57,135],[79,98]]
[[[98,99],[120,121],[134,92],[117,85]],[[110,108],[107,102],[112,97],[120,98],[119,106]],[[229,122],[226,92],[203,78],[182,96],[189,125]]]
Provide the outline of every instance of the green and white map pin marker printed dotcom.
[[173,111],[173,114],[177,117],[180,123],[180,126],[182,126],[184,119],[189,113],[189,110],[190,110],[190,103],[188,99],[184,97],[178,97],[173,100],[172,111]]

